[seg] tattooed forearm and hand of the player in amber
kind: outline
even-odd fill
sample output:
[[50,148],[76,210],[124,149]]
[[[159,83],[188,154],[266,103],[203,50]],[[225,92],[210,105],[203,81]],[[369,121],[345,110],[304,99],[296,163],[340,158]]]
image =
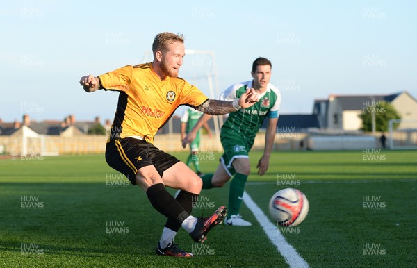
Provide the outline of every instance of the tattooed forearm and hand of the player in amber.
[[249,108],[257,101],[259,101],[258,94],[256,94],[253,88],[250,88],[239,99],[234,99],[233,101],[209,99],[202,105],[197,106],[195,110],[199,110],[208,115],[225,115],[230,112],[236,112],[239,109]]

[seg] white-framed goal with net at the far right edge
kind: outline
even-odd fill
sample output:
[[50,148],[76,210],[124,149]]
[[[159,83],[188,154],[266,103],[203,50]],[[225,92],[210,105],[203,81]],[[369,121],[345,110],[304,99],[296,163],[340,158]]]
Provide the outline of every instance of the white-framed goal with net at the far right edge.
[[417,120],[389,120],[389,148],[417,149]]

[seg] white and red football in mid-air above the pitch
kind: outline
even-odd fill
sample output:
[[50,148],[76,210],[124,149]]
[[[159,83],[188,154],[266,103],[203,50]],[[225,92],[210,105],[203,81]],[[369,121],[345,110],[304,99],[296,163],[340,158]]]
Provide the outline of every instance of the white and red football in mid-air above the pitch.
[[269,211],[279,226],[297,226],[309,213],[309,201],[300,190],[286,188],[271,197]]

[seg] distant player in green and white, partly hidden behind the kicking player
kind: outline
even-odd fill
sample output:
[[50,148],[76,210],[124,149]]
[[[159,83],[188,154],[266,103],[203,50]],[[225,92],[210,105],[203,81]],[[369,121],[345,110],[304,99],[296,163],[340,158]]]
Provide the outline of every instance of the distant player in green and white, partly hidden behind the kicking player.
[[[188,108],[183,112],[181,116],[181,140],[186,136],[186,133],[190,132],[190,130],[197,124],[198,119],[202,117],[203,113],[199,112],[193,108]],[[204,128],[206,128],[208,137],[211,137],[210,128],[208,128],[208,124],[203,124]],[[186,164],[190,167],[191,163],[194,164],[195,173],[198,176],[202,176],[202,172],[199,167],[199,158],[198,158],[198,151],[199,151],[199,143],[201,138],[201,130],[197,131],[197,135],[193,142],[190,143],[190,156],[188,156]]]

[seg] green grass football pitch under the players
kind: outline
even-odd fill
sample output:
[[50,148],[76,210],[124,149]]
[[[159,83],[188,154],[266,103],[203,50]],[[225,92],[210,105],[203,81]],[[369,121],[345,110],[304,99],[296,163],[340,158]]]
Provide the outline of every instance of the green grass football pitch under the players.
[[[218,156],[204,152],[202,171]],[[417,151],[279,151],[262,177],[260,157],[246,190],[265,214],[284,187],[309,199],[304,222],[277,232],[310,267],[416,266]],[[227,205],[228,190],[203,190],[193,214]],[[217,226],[204,244],[181,230],[195,258],[156,256],[164,217],[102,155],[0,160],[0,209],[0,267],[288,267],[245,205],[254,226]]]

